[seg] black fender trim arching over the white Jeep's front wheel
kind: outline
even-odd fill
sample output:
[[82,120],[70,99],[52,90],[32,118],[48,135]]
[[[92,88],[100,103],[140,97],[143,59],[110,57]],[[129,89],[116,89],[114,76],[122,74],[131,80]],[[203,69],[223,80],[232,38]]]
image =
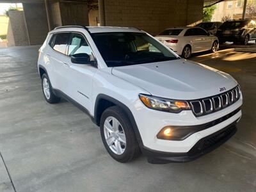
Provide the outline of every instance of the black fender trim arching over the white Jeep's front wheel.
[[144,148],[144,145],[143,145],[143,141],[141,139],[141,136],[140,136],[140,131],[138,129],[138,126],[136,124],[136,121],[134,119],[134,116],[132,115],[132,112],[131,110],[125,105],[123,104],[122,102],[120,102],[119,100],[116,100],[114,99],[113,97],[109,97],[108,95],[105,95],[105,94],[99,94],[95,100],[95,111],[94,111],[94,119],[95,119],[95,122],[97,125],[99,125],[99,120],[100,120],[100,116],[97,115],[97,109],[99,107],[99,101],[100,99],[105,99],[105,100],[108,100],[109,102],[112,102],[113,104],[115,104],[116,106],[122,108],[124,110],[124,112],[126,113],[126,115],[128,116],[131,124],[132,124],[132,128],[133,128],[133,131],[135,133],[135,136],[136,136],[136,139],[138,141],[138,144],[139,144],[139,147],[141,150],[143,150]]

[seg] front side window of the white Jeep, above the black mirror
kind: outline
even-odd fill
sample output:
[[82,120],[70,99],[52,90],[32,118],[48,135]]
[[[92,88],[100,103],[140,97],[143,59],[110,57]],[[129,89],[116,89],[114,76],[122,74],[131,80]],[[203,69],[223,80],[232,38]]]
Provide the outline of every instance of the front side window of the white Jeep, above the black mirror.
[[88,45],[88,42],[85,40],[84,36],[74,33],[70,40],[70,44],[68,45],[68,56],[78,53],[86,53],[91,57],[91,60],[93,60],[92,49]]

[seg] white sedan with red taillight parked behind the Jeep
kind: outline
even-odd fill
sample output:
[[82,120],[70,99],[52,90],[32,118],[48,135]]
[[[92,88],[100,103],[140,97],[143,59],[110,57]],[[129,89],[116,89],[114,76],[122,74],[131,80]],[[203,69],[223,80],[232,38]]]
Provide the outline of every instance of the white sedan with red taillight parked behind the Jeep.
[[156,36],[157,40],[185,59],[194,52],[218,51],[219,41],[205,29],[197,27],[169,28]]

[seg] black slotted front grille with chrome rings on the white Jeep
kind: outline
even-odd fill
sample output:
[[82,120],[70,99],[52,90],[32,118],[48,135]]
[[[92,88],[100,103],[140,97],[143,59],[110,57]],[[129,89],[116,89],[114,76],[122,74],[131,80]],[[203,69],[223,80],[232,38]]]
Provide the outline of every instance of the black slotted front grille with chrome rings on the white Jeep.
[[234,104],[240,98],[240,88],[236,86],[232,90],[212,97],[190,100],[189,104],[195,116],[208,115]]

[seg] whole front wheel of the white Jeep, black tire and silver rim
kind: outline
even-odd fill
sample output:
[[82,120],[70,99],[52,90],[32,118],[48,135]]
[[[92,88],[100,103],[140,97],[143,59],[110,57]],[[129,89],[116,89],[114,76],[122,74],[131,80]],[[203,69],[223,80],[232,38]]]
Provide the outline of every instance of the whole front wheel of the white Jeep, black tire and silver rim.
[[112,106],[102,113],[100,118],[100,135],[109,155],[120,163],[131,161],[140,154],[140,148],[131,122],[124,111],[118,106]]

